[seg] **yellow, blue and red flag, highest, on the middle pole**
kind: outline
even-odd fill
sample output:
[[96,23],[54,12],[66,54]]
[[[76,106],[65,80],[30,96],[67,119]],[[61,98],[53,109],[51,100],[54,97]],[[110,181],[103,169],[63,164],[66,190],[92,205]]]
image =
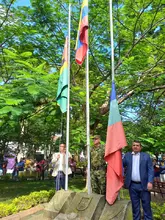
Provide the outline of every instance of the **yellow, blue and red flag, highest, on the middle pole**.
[[88,0],[83,0],[76,41],[76,63],[82,65],[88,50]]

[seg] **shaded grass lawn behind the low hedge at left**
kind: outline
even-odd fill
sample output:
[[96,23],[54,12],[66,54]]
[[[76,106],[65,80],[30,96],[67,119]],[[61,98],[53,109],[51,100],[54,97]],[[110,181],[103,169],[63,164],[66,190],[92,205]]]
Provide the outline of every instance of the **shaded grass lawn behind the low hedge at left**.
[[[73,191],[82,191],[85,188],[85,180],[82,176],[76,176],[69,179],[69,189]],[[12,199],[28,195],[34,191],[55,189],[54,179],[44,181],[24,180],[11,181],[0,180],[0,202],[10,202]]]

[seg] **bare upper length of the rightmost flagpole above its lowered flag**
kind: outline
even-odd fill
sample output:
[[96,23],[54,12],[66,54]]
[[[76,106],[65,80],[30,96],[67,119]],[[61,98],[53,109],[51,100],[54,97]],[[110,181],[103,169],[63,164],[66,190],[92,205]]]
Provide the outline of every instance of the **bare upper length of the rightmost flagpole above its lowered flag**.
[[111,35],[111,71],[112,71],[112,81],[115,80],[114,71],[114,40],[113,40],[113,16],[112,16],[112,0],[109,1],[109,17],[110,17],[110,35]]

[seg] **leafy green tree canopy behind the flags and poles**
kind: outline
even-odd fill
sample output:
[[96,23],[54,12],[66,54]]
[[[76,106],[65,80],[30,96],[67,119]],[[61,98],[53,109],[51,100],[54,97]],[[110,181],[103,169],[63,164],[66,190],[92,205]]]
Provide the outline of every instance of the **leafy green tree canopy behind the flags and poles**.
[[[29,149],[53,146],[66,115],[56,104],[61,57],[68,29],[68,1],[0,1],[0,139]],[[85,66],[75,63],[81,1],[72,1],[70,147],[85,149]],[[115,81],[128,145],[165,151],[165,2],[113,1]],[[91,136],[105,141],[111,90],[108,0],[89,1]],[[22,132],[23,131],[23,132]]]

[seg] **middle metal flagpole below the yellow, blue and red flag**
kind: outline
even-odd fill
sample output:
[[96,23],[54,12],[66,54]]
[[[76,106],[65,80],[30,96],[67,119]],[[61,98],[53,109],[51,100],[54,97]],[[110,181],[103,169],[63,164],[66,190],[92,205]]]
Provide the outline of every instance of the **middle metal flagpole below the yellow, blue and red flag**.
[[[87,32],[88,33],[88,32]],[[87,35],[88,37],[88,35]],[[91,194],[91,175],[90,175],[90,112],[89,112],[89,54],[87,49],[86,56],[86,135],[87,135],[87,186],[88,195]]]

